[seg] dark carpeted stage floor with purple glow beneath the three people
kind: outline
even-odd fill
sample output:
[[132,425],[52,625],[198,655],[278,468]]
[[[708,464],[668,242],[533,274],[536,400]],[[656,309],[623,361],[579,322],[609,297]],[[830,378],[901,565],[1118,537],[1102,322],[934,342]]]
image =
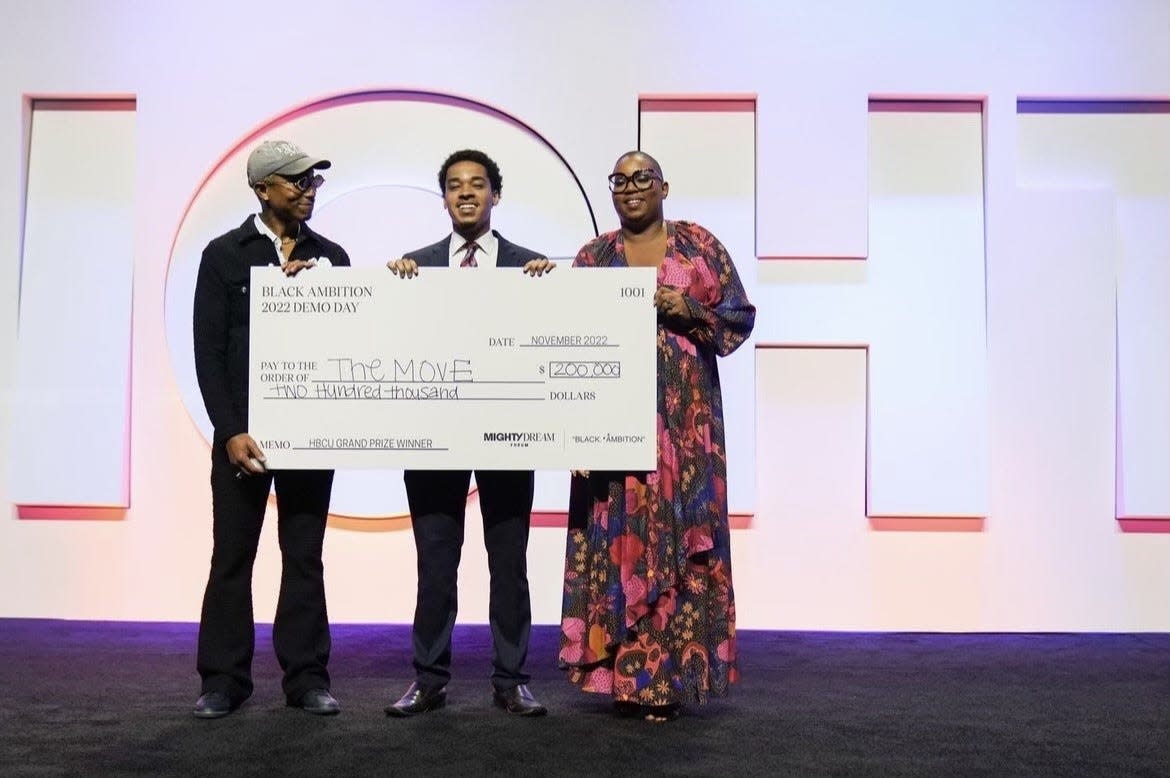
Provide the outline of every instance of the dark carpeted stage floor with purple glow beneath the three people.
[[486,627],[459,627],[447,709],[390,720],[410,631],[336,626],[343,712],[285,708],[270,629],[256,694],[198,721],[195,627],[0,620],[0,774],[1170,776],[1170,635],[741,633],[743,681],[666,724],[617,718],[555,666],[490,704]]

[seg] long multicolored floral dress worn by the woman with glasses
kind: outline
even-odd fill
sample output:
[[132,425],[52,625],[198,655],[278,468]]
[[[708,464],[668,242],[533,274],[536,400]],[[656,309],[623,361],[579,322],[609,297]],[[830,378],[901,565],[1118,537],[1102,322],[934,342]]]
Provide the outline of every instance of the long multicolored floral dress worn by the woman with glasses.
[[[738,679],[728,528],[723,400],[716,354],[751,333],[727,249],[668,221],[659,285],[681,289],[696,322],[658,326],[658,470],[573,478],[560,666],[617,702],[704,702]],[[621,233],[601,235],[574,267],[628,267]]]

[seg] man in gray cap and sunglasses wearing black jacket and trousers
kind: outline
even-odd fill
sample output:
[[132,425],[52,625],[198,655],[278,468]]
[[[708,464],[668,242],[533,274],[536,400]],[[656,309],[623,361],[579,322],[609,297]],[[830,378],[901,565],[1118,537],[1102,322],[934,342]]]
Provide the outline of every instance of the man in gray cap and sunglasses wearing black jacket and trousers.
[[[340,710],[329,690],[330,638],[321,560],[332,470],[268,470],[248,434],[248,310],[252,268],[280,266],[284,275],[349,266],[337,243],[309,229],[318,170],[287,140],[266,140],[248,156],[248,185],[260,213],[204,249],[195,282],[194,351],[199,391],[215,433],[212,441],[211,574],[199,622],[199,718],[219,718],[252,695],[255,621],[252,569],[268,493],[276,484],[281,591],[273,646],[288,704],[308,712]],[[318,273],[321,270],[317,270]]]

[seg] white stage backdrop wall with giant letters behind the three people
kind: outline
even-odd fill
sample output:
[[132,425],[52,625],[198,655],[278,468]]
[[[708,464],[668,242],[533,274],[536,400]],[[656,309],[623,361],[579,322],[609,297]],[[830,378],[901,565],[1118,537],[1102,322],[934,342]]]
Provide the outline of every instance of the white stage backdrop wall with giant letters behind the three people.
[[[1117,521],[1170,518],[1157,388],[1170,384],[1170,115],[1017,112],[1020,98],[1170,99],[1170,4],[875,5],[291,0],[277,15],[219,0],[5,2],[0,617],[198,617],[207,445],[174,367],[190,359],[183,317],[168,314],[183,302],[167,296],[174,250],[243,219],[242,177],[230,187],[250,139],[300,131],[319,99],[420,90],[515,117],[559,153],[542,152],[546,164],[579,175],[576,200],[534,212],[522,204],[541,200],[548,174],[535,157],[502,159],[495,226],[510,239],[571,254],[591,236],[584,204],[612,229],[605,174],[641,138],[672,181],[668,216],[704,223],[731,249],[760,309],[753,340],[723,369],[742,627],[1170,629],[1170,533]],[[68,262],[25,253],[28,103],[125,96],[137,99],[132,287],[87,291]],[[751,110],[654,96],[732,96]],[[982,111],[870,112],[873,98]],[[330,135],[342,126],[349,136]],[[352,207],[323,192],[321,220],[343,245],[355,236],[358,262],[380,260],[371,235],[385,225],[355,214],[421,214],[414,232],[386,236],[388,253],[441,236],[422,221],[442,229],[438,200],[426,215],[439,146],[509,153],[482,126],[466,140],[419,126],[432,125],[304,130],[310,151],[353,163],[324,191],[349,179],[339,200]],[[417,181],[379,167],[386,154]],[[103,160],[91,163],[78,174],[101,177]],[[232,207],[200,211],[204,184],[221,180]],[[85,235],[73,245],[102,261]],[[98,469],[14,419],[28,347],[20,290],[54,274],[68,295],[132,289],[129,505],[73,514],[97,521],[18,518],[14,505],[25,488],[14,461],[30,452],[51,452],[62,481]],[[556,500],[545,490],[542,508]],[[476,519],[473,507],[464,621],[487,614]],[[563,541],[555,525],[534,530],[538,622],[559,620]],[[266,530],[261,619],[275,546]],[[408,621],[413,571],[405,519],[332,522],[335,620]]]

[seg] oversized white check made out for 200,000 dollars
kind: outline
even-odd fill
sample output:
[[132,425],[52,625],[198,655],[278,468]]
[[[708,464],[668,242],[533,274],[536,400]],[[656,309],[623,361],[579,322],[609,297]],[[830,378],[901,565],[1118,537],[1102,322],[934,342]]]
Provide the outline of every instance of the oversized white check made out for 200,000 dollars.
[[252,270],[269,468],[655,467],[653,269]]

